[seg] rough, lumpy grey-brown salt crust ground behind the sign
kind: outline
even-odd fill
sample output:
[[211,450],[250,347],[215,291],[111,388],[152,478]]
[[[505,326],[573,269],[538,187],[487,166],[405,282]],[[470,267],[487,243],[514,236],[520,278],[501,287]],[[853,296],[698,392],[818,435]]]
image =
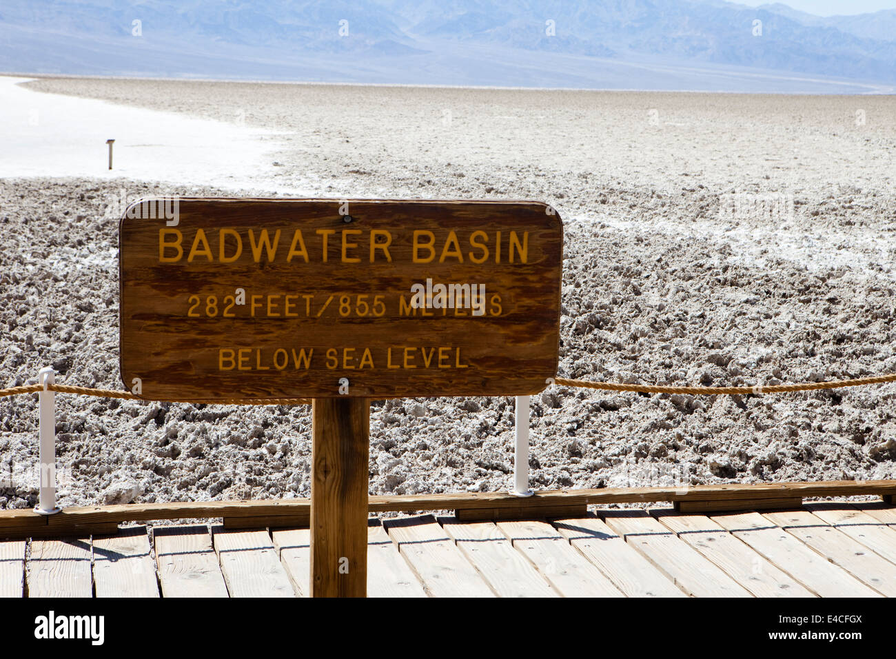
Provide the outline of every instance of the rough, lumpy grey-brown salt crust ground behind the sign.
[[[41,83],[120,93],[114,82]],[[127,82],[128,89],[135,84]],[[132,93],[127,102],[177,105],[165,83],[146,84],[146,94]],[[178,86],[177,94],[187,87]],[[218,104],[215,111],[230,111],[218,85],[197,89],[202,94],[191,108]],[[853,134],[838,114],[840,101],[823,97],[529,91],[485,97],[469,90],[323,87],[292,97],[278,89],[269,97],[263,85],[256,92],[270,104],[260,117],[271,129],[283,127],[279,121],[290,130],[323,125],[327,112],[349,126],[350,144],[306,128],[305,143],[276,155],[284,163],[276,180],[318,181],[314,196],[535,198],[554,205],[565,224],[562,376],[754,385],[896,372],[896,286],[889,276],[896,195],[892,170],[884,168],[896,144],[892,104],[863,97],[868,116],[878,120]],[[316,103],[306,102],[309,93]],[[382,101],[375,112],[371,95]],[[513,135],[490,141],[491,114],[511,101],[521,108]],[[419,118],[443,103],[464,117],[460,134]],[[691,133],[647,134],[631,118],[641,116],[645,103],[667,108],[660,111],[672,120],[687,117]],[[553,134],[535,118],[546,104]],[[287,111],[297,107],[303,112]],[[759,137],[732,147],[730,126],[740,126],[742,116]],[[806,126],[794,125],[795,116]],[[387,139],[376,126],[386,121],[412,129]],[[369,139],[355,140],[363,131]],[[769,180],[765,158],[782,131],[799,168]],[[611,138],[633,150],[605,148]],[[835,155],[814,158],[819,141]],[[542,150],[551,145],[549,159],[540,159],[536,143]],[[692,160],[686,167],[683,153]],[[705,173],[683,174],[689,171]],[[238,194],[271,195],[269,183],[260,176]],[[3,386],[33,382],[52,363],[59,383],[121,387],[117,221],[103,209],[123,187],[134,196],[235,192],[192,182],[0,181]],[[737,233],[723,230],[719,197],[735,189],[787,190],[797,218],[774,232],[781,245],[809,235],[817,251],[798,258],[779,252],[768,243],[771,228],[756,218],[741,219]],[[700,231],[704,224],[712,230]],[[844,243],[845,262],[838,260]],[[56,400],[63,506],[309,493],[307,407]],[[896,478],[896,385],[740,398],[552,387],[532,401],[530,469],[538,489]],[[37,451],[36,396],[0,400],[0,470],[33,468]],[[512,469],[512,399],[374,404],[373,493],[506,490]],[[9,486],[0,489],[0,506],[34,505],[36,487],[18,475],[4,478]]]

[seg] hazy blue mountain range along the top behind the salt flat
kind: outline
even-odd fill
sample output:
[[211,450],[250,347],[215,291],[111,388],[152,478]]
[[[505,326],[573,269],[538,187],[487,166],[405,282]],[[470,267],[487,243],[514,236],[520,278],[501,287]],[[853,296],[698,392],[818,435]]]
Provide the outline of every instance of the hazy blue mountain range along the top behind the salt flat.
[[0,71],[892,91],[896,11],[822,18],[721,0],[3,0]]

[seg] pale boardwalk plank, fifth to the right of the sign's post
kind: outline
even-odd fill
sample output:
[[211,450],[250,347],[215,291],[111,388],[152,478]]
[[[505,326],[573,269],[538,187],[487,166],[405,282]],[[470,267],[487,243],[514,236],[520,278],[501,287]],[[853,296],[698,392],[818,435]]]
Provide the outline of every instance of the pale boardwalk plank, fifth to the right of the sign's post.
[[558,519],[556,530],[594,563],[626,597],[684,597],[685,593],[597,516]]

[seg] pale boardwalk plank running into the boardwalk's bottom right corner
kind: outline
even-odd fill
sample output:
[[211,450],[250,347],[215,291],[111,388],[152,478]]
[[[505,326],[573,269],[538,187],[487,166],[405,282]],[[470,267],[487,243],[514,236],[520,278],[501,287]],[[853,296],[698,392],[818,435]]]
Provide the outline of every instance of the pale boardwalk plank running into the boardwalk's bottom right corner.
[[[779,525],[817,551],[825,559],[845,569],[853,577],[870,585],[880,594],[896,595],[896,565],[883,559],[839,529],[827,525],[808,510],[766,513],[765,518]],[[896,536],[896,533],[893,533]]]

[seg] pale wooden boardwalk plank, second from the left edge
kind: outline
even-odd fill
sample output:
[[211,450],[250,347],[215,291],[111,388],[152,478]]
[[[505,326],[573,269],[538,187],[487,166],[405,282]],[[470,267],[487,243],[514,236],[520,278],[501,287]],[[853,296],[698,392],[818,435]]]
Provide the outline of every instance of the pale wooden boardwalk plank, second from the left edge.
[[90,540],[36,540],[27,565],[29,597],[92,597]]

